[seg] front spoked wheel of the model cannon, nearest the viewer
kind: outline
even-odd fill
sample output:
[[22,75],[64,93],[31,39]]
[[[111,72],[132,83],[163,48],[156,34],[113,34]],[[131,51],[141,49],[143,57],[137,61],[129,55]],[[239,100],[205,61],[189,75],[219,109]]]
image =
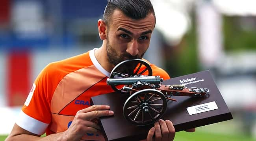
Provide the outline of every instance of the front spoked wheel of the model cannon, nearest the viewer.
[[124,117],[134,125],[144,126],[158,121],[164,114],[167,101],[163,93],[155,89],[139,90],[124,103]]

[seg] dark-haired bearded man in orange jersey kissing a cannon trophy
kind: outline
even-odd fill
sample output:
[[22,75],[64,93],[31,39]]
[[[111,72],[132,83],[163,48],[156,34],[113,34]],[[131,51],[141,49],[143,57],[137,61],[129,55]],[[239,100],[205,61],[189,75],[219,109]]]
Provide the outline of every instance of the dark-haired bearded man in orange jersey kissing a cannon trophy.
[[[109,72],[123,60],[143,57],[155,24],[149,0],[108,0],[104,20],[98,20],[102,46],[47,65],[33,83],[7,140],[104,140],[97,119],[114,112],[108,105],[91,106],[89,100],[113,92],[106,85]],[[165,71],[151,67],[153,75],[169,79]],[[40,138],[45,132],[47,136]],[[171,121],[160,119],[147,140],[170,141],[174,135]]]

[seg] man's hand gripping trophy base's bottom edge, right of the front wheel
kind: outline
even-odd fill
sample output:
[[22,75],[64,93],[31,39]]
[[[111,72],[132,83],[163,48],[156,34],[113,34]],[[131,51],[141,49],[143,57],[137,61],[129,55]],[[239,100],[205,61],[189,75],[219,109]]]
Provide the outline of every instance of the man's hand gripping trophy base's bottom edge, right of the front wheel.
[[[155,137],[153,138],[153,136]],[[147,141],[173,141],[175,129],[169,120],[160,119],[154,127],[148,131]]]

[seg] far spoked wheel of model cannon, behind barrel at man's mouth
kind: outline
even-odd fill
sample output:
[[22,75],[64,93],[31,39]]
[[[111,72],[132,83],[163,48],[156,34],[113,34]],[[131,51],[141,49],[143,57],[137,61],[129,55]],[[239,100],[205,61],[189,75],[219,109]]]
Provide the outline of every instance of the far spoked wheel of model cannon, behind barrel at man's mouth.
[[[152,76],[150,65],[141,59],[125,60],[117,64],[110,73],[110,78],[130,78],[139,75]],[[124,85],[111,85],[112,89],[122,94],[130,93],[122,90]]]

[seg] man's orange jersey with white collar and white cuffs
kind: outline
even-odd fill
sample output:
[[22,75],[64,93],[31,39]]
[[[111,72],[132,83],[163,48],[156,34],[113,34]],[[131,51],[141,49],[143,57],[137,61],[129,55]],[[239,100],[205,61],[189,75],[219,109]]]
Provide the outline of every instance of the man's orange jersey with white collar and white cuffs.
[[[38,135],[63,132],[78,110],[91,106],[91,97],[113,92],[106,84],[110,73],[100,66],[94,51],[48,64],[33,83],[17,125]],[[170,78],[163,69],[150,66],[153,76]],[[86,133],[83,139],[104,137],[100,133]]]

